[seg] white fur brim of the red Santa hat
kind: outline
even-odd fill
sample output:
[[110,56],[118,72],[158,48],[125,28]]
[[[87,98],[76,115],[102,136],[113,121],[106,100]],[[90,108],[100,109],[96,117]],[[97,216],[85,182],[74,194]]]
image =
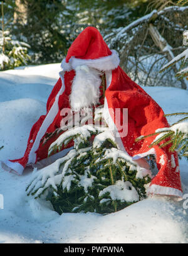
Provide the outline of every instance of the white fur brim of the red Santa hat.
[[61,68],[63,68],[65,71],[69,71],[71,69],[75,69],[77,66],[86,65],[88,67],[92,67],[93,69],[103,71],[113,70],[118,67],[120,58],[115,50],[111,50],[111,52],[111,55],[95,58],[93,60],[71,57],[68,63],[66,63],[65,60],[61,62]]

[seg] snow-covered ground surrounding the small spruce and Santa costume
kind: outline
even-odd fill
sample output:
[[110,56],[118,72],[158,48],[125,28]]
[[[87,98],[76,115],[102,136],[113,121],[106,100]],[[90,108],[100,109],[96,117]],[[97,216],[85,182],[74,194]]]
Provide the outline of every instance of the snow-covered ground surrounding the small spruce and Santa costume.
[[[22,157],[29,131],[41,114],[58,79],[60,64],[0,72],[0,160]],[[188,112],[188,91],[145,87],[165,113]],[[169,120],[175,121],[174,118]],[[32,170],[22,176],[0,169],[0,243],[187,243],[185,200],[153,196],[117,213],[63,213],[47,201],[26,196]],[[188,193],[188,162],[180,160],[184,194]],[[1,199],[1,197],[0,197]],[[187,203],[188,206],[188,203]],[[1,204],[0,204],[1,207]]]

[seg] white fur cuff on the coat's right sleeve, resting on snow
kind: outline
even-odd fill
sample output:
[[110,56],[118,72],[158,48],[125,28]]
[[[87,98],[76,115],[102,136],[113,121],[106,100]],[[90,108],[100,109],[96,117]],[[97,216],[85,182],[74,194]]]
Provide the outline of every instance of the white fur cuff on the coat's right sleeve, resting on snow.
[[182,197],[183,193],[179,189],[174,189],[173,187],[164,187],[159,185],[151,185],[147,188],[147,194],[160,194],[166,196],[179,196]]

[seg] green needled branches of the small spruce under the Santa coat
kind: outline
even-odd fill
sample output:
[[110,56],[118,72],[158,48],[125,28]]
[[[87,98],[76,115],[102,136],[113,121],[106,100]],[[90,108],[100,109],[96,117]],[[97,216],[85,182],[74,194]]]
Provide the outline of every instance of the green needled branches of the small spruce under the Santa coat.
[[[100,135],[101,132],[98,131],[97,133]],[[90,132],[90,137],[86,139],[83,138],[81,133],[76,133],[75,136],[63,140],[61,145],[55,144],[51,148],[51,152],[56,152],[56,150],[65,146],[64,143],[74,140],[75,148],[68,153],[68,155],[71,155],[73,152],[73,157],[65,156],[62,158],[59,169],[55,172],[52,169],[53,172],[49,172],[47,177],[45,177],[46,172],[41,177],[36,175],[26,188],[28,195],[31,194],[34,198],[38,198],[42,194],[43,196],[46,195],[46,200],[51,201],[55,211],[60,214],[81,211],[107,214],[135,203],[135,201],[129,202],[111,198],[110,192],[100,194],[103,189],[116,186],[115,184],[118,181],[130,182],[138,193],[138,200],[145,198],[144,185],[150,182],[150,177],[147,175],[143,179],[137,179],[136,165],[121,157],[116,160],[112,157],[106,159],[105,157],[109,152],[107,150],[117,152],[117,145],[110,138],[104,136],[105,139],[100,144],[100,148],[94,148],[91,136],[93,136],[93,132]],[[95,134],[95,136],[97,135]],[[132,169],[130,169],[130,166],[132,166]],[[62,173],[64,175],[61,175]],[[61,181],[57,179],[58,175],[60,175]],[[58,182],[58,184],[55,184],[55,182]],[[85,184],[88,184],[88,186]],[[54,186],[56,186],[56,189]]]

